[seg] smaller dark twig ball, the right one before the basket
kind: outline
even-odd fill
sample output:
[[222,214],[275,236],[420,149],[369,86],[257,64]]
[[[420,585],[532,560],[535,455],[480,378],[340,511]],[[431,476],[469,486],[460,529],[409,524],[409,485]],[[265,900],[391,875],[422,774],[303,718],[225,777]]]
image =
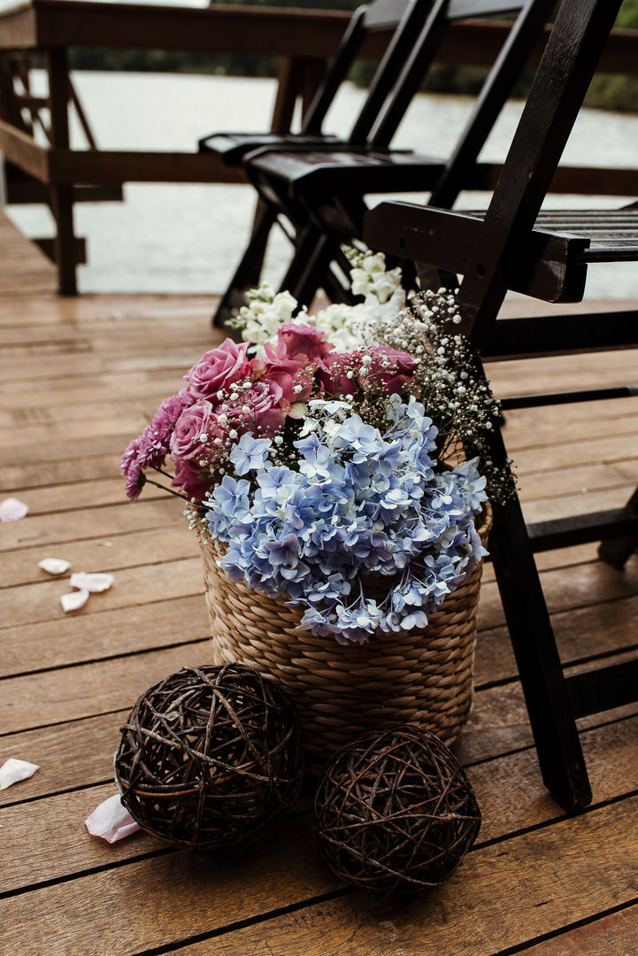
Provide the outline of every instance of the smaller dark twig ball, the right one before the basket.
[[321,856],[341,880],[411,896],[454,872],[480,828],[456,757],[433,733],[371,733],[330,761],[315,797]]

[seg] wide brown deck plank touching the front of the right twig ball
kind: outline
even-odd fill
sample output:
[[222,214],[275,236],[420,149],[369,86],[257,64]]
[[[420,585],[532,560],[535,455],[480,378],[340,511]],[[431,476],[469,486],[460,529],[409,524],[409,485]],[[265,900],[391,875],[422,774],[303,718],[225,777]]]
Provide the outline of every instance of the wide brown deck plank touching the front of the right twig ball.
[[[564,923],[591,918],[599,905],[635,899],[636,847],[623,836],[624,821],[635,817],[635,799],[478,850],[425,901],[384,904],[352,894],[196,942],[188,952],[492,956],[518,948]],[[624,860],[615,839],[625,842]],[[503,886],[509,889],[505,899]],[[559,948],[548,952],[563,954]]]

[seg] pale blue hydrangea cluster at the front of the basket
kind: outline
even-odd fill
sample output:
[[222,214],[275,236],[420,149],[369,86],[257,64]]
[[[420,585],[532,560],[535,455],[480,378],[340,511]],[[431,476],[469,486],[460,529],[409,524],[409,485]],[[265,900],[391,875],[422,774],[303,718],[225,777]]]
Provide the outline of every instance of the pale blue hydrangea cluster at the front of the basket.
[[387,419],[381,434],[347,402],[310,402],[294,467],[243,435],[230,456],[239,480],[226,474],[206,502],[227,575],[287,596],[305,607],[303,628],[342,643],[425,626],[487,554],[476,462],[435,471],[436,427],[414,397],[390,396]]

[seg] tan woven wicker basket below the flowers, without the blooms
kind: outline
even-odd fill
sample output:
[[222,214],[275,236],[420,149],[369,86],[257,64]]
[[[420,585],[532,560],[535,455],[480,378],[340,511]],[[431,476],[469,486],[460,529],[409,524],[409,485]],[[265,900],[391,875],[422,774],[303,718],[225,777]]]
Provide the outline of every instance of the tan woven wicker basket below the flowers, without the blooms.
[[[492,524],[489,506],[478,533]],[[284,598],[233,583],[217,566],[223,548],[202,543],[214,663],[245,663],[281,684],[299,708],[307,771],[359,734],[397,724],[432,730],[446,744],[472,706],[476,615],[482,562],[423,630],[338,644],[297,630],[302,612]]]

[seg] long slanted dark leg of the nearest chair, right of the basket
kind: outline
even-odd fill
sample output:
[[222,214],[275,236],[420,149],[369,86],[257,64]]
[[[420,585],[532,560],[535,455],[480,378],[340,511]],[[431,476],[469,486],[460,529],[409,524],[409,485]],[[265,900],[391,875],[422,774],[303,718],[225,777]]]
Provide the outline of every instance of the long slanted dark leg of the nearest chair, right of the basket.
[[[506,457],[500,432],[491,450],[495,462]],[[590,802],[591,789],[521,503],[514,497],[494,511],[490,550],[542,779],[565,810],[574,810]]]

